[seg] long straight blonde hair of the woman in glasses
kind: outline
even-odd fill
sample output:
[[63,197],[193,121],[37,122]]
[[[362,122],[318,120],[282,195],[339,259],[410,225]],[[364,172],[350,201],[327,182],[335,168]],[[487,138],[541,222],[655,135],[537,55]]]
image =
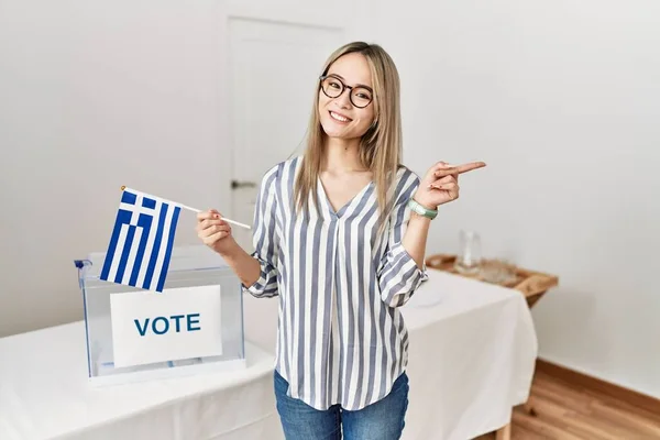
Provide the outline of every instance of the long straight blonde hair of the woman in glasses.
[[[377,44],[353,42],[334,51],[326,61],[321,75],[339,57],[360,53],[369,64],[374,97],[374,123],[364,133],[360,141],[360,160],[364,167],[373,173],[376,188],[378,208],[381,209],[381,226],[387,215],[388,193],[396,180],[396,174],[402,161],[402,120],[399,98],[399,76],[391,56]],[[318,175],[321,170],[324,132],[319,120],[319,87],[316,88],[314,107],[307,130],[307,147],[302,157],[302,165],[295,183],[294,199],[298,209],[308,210],[309,195],[317,195]],[[318,197],[314,198],[317,212],[320,212]]]

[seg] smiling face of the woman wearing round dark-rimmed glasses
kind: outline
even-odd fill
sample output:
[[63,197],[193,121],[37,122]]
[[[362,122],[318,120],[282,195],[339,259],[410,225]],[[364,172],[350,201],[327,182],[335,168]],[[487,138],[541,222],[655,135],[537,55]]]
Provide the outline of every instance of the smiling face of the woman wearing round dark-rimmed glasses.
[[[342,84],[348,87],[336,98],[319,88],[319,119],[326,134],[344,140],[361,138],[374,121],[373,85],[364,55],[350,53],[338,58],[328,69],[323,82],[328,95],[336,96]],[[351,94],[352,100],[351,102]],[[364,106],[369,101],[369,105]],[[360,107],[356,107],[360,106]]]

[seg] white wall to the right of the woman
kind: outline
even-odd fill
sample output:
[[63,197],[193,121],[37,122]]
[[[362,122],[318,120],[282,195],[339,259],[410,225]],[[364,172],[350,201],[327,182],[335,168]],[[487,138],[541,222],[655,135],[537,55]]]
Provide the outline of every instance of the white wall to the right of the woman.
[[400,4],[374,36],[403,76],[408,163],[488,164],[430,252],[473,228],[488,256],[559,275],[534,308],[541,358],[660,397],[660,4]]

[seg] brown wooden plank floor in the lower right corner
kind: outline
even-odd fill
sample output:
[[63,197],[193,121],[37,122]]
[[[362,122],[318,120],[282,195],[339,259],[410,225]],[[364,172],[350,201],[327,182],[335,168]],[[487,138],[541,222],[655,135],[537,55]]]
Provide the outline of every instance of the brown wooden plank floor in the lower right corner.
[[[529,404],[514,410],[513,440],[660,439],[660,414],[537,371]],[[495,439],[494,435],[477,440]]]

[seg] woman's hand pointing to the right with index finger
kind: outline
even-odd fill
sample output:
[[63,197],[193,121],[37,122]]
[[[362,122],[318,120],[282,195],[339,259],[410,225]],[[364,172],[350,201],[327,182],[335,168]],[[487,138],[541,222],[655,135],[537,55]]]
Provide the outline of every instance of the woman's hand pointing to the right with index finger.
[[486,164],[483,162],[471,162],[463,165],[438,162],[424,176],[414,198],[428,209],[437,209],[440,205],[459,198],[459,174],[484,166]]

